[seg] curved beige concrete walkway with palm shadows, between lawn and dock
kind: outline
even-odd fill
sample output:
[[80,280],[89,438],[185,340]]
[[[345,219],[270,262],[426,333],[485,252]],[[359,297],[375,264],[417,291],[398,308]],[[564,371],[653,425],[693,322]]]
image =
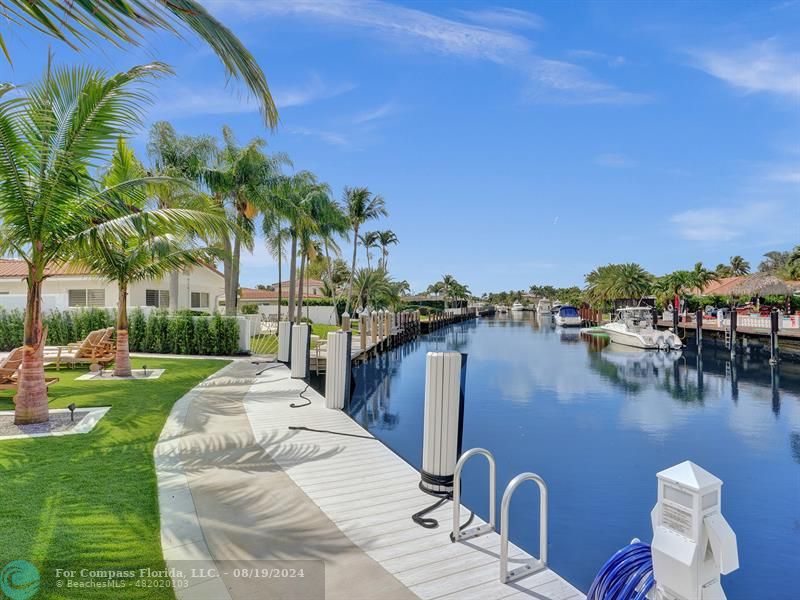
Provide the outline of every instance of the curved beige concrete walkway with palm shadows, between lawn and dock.
[[176,595],[417,598],[351,542],[256,442],[242,401],[268,368],[231,363],[179,400],[161,433],[154,453],[161,541],[167,566],[176,569]]

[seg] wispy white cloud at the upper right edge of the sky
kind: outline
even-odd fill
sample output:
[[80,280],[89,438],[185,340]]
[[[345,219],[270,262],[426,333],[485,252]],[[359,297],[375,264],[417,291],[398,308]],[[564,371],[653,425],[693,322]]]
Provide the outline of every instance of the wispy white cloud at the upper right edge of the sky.
[[745,92],[800,97],[800,53],[783,51],[773,39],[735,50],[690,54],[698,69]]

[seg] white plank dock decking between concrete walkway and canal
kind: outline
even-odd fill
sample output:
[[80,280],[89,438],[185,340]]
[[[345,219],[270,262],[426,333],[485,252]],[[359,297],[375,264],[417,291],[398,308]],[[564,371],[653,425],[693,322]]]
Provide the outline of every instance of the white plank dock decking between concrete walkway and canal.
[[[258,444],[325,515],[363,552],[422,600],[578,600],[579,590],[550,569],[512,584],[499,581],[500,536],[487,534],[453,544],[452,505],[430,516],[437,529],[424,529],[411,514],[435,498],[419,490],[419,474],[369,432],[324,399],[289,370],[263,372],[244,397]],[[307,427],[350,435],[289,430]],[[469,511],[462,507],[462,520]],[[482,523],[476,516],[476,522]],[[513,544],[510,567],[531,557]]]

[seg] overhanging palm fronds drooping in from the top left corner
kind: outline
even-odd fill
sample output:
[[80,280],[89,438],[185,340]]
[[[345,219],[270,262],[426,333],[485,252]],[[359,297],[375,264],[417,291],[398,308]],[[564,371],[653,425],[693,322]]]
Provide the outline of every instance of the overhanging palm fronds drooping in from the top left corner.
[[[0,0],[0,9],[7,23],[43,32],[74,50],[93,45],[95,38],[115,45],[139,45],[143,30],[159,28],[180,35],[179,27],[187,27],[211,47],[229,76],[244,80],[258,99],[267,125],[274,128],[278,124],[267,78],[256,59],[196,0]],[[10,63],[2,35],[0,50]]]

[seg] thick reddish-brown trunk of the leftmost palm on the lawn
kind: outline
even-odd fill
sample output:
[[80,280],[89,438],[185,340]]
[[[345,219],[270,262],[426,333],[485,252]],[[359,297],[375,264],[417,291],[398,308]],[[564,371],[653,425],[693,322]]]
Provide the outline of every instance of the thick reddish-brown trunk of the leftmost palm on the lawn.
[[14,423],[17,425],[42,423],[49,416],[41,344],[43,271],[43,267],[33,265],[28,268],[22,365],[14,407]]

